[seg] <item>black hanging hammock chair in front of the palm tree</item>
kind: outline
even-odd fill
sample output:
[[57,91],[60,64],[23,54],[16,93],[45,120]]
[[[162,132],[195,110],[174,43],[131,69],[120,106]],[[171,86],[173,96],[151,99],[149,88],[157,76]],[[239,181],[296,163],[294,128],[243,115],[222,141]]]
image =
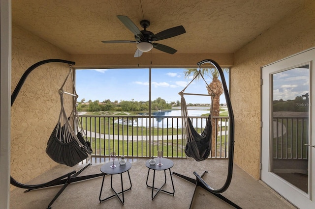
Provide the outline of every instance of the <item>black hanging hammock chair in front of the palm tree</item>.
[[[200,77],[205,81],[206,86],[208,90],[210,90],[210,94],[191,94],[191,93],[184,93],[186,88],[190,85],[190,83],[197,78],[200,75]],[[202,74],[199,72],[195,75],[195,77],[189,82],[189,84],[178,94],[181,95],[181,110],[182,110],[182,126],[183,126],[183,138],[184,143],[186,143],[185,147],[185,154],[187,157],[192,157],[196,161],[202,161],[209,157],[211,153],[211,136],[212,136],[212,108],[213,108],[213,92],[208,87],[208,83],[203,78]],[[210,108],[210,114],[208,116],[208,119],[206,121],[206,126],[204,130],[199,134],[195,128],[193,127],[193,124],[189,118],[188,115],[188,109],[186,100],[184,98],[184,95],[199,95],[199,96],[212,96],[211,101],[211,108]],[[185,141],[186,140],[186,141]]]

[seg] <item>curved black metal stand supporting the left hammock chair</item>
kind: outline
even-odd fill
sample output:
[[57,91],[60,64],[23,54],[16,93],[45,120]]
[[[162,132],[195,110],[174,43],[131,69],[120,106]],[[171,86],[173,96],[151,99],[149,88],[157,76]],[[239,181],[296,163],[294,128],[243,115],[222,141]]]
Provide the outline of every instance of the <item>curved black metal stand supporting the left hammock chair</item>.
[[[23,76],[20,78],[17,86],[15,87],[12,95],[11,95],[11,107],[15,101],[15,99],[17,98],[23,83],[25,82],[26,78],[29,76],[29,74],[38,66],[46,64],[46,63],[50,63],[50,62],[62,62],[62,63],[67,63],[70,65],[70,67],[72,65],[75,64],[75,62],[72,61],[67,61],[67,60],[63,60],[63,59],[46,59],[46,60],[42,60],[40,62],[37,62],[35,64],[33,64],[31,67],[29,67],[28,70],[25,71],[25,73],[23,74]],[[69,75],[68,75],[69,76]],[[61,92],[60,92],[61,93]],[[64,92],[66,93],[66,92]],[[69,93],[66,93],[69,94]],[[71,94],[70,94],[71,95]],[[75,95],[74,95],[75,96]],[[72,112],[73,113],[73,112]],[[71,116],[69,118],[72,118]],[[81,136],[81,135],[79,135]],[[81,141],[82,143],[85,143],[81,140],[82,138],[79,137],[79,141]],[[89,152],[89,150],[88,150]],[[92,151],[91,151],[92,152]],[[56,160],[55,160],[56,161]],[[66,164],[66,163],[63,163]],[[84,180],[88,180],[88,179],[93,179],[96,177],[100,177],[103,176],[103,173],[99,173],[99,174],[92,174],[92,175],[87,175],[87,176],[80,176],[78,177],[78,175],[84,171],[88,166],[90,166],[91,163],[89,163],[88,165],[86,165],[85,167],[83,167],[81,170],[79,170],[78,172],[76,171],[72,171],[70,173],[67,173],[61,177],[58,177],[52,181],[46,182],[46,183],[40,183],[40,184],[24,184],[24,183],[20,183],[18,181],[16,181],[12,176],[10,176],[10,183],[16,187],[19,188],[25,188],[27,189],[24,192],[29,192],[31,190],[34,189],[41,189],[41,188],[46,188],[46,187],[51,187],[51,186],[57,186],[57,185],[63,185],[62,188],[58,191],[58,193],[56,194],[56,196],[53,198],[53,200],[49,203],[48,205],[48,209],[51,208],[51,205],[56,201],[56,199],[60,196],[60,194],[63,192],[63,190],[70,184],[70,183],[75,183],[75,182],[80,182],[80,181],[84,181]],[[72,165],[71,165],[72,166]]]

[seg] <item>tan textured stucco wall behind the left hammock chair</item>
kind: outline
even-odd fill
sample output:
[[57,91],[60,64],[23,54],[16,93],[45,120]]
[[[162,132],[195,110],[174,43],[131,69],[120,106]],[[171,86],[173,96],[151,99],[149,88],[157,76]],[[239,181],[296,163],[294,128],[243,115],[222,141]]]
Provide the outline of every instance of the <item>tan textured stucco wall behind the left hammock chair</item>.
[[[68,54],[55,46],[12,25],[11,93],[23,73],[36,62],[68,58]],[[21,183],[27,183],[57,164],[47,156],[45,149],[60,112],[58,89],[68,72],[65,63],[49,63],[36,68],[12,106],[11,176]],[[70,87],[67,85],[66,89],[70,91]],[[69,107],[67,105],[67,109]]]

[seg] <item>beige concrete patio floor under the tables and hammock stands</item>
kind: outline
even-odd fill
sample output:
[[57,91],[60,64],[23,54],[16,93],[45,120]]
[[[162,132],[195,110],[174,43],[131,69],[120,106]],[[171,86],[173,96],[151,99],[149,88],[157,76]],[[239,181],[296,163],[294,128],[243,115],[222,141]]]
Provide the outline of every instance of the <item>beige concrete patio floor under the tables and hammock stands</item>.
[[[182,178],[173,175],[175,194],[170,195],[159,192],[157,197],[152,200],[150,188],[146,186],[148,168],[145,166],[147,158],[128,159],[132,163],[129,170],[132,188],[125,192],[125,204],[121,204],[117,197],[113,197],[102,203],[99,202],[99,193],[102,183],[102,177],[70,183],[59,198],[52,204],[53,209],[189,209],[195,185]],[[193,171],[201,175],[205,170],[204,180],[212,188],[221,188],[225,183],[227,175],[228,160],[226,159],[208,159],[201,162],[191,161],[189,159],[172,159],[174,166],[172,172],[180,173],[195,179]],[[100,173],[100,167],[103,163],[95,160],[92,165],[83,171],[79,176]],[[58,165],[52,170],[33,179],[29,184],[44,183],[54,178],[62,176],[73,170],[80,170],[85,164],[74,167]],[[149,183],[152,183],[153,172],[150,172]],[[14,178],[14,177],[13,177]],[[130,186],[127,179],[127,173],[123,174],[124,188]],[[166,173],[167,182],[163,189],[172,190],[169,173]],[[156,172],[155,185],[162,185],[164,172]],[[119,191],[121,189],[120,175],[113,176],[113,187]],[[10,208],[11,209],[45,209],[50,201],[57,194],[61,186],[32,190],[24,193],[25,189],[15,188],[11,191]],[[117,189],[116,189],[117,188]],[[112,195],[110,188],[110,176],[105,176],[102,199]],[[253,179],[241,168],[233,166],[233,177],[229,188],[221,195],[228,198],[243,209],[295,209],[284,198],[279,196],[271,188],[261,181]],[[203,188],[197,187],[195,197],[192,202],[192,209],[213,208],[228,209],[233,208],[227,205],[221,199],[207,192]]]

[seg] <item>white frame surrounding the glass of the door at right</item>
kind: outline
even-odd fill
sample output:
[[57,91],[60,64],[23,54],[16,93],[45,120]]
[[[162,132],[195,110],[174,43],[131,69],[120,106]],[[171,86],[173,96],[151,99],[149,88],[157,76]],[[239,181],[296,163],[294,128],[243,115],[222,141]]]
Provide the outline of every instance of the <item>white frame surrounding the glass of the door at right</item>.
[[[295,63],[295,64],[292,64]],[[262,131],[261,131],[261,180],[268,184],[271,188],[276,190],[285,199],[291,202],[293,205],[301,209],[315,208],[315,179],[312,179],[312,175],[315,175],[315,148],[309,148],[309,194],[301,191],[295,186],[287,183],[276,174],[270,172],[270,156],[271,156],[271,144],[270,138],[273,133],[270,131],[271,124],[271,103],[270,103],[270,89],[272,85],[270,83],[271,74],[283,71],[285,69],[291,69],[292,67],[310,63],[310,109],[309,109],[309,143],[315,145],[315,138],[312,137],[312,133],[315,133],[315,122],[312,123],[312,118],[315,118],[315,111],[312,111],[312,98],[315,98],[315,85],[312,85],[312,81],[315,81],[315,72],[313,66],[315,63],[315,49],[310,49],[275,63],[269,64],[262,68],[262,100],[261,100],[261,119],[262,119]],[[313,65],[313,66],[312,66]],[[265,95],[264,95],[265,94]],[[315,134],[313,134],[315,135]],[[312,162],[313,159],[313,162]],[[313,166],[312,166],[313,165]]]

